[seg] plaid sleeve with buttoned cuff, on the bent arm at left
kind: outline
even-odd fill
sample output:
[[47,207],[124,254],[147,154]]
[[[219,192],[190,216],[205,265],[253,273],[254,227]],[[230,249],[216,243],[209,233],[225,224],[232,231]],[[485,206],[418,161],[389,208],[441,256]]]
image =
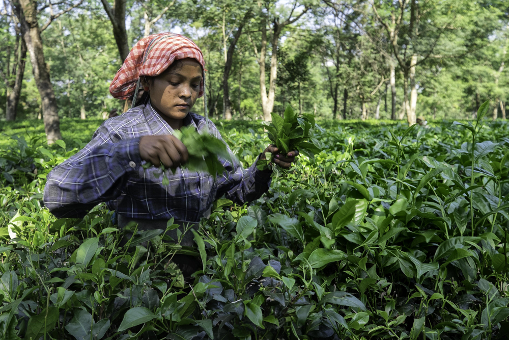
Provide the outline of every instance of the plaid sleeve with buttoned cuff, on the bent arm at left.
[[101,125],[82,150],[48,174],[44,204],[58,218],[82,218],[98,203],[116,199],[125,174],[141,162],[139,137],[121,139]]

